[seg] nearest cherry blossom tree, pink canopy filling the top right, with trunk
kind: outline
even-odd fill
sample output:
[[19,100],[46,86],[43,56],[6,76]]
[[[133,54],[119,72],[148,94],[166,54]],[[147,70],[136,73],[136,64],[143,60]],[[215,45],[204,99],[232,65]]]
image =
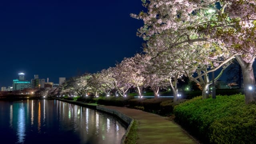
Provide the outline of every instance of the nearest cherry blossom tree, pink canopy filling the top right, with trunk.
[[[244,85],[254,86],[254,0],[143,0],[143,3],[148,11],[132,14],[144,21],[139,36],[145,40],[156,34],[161,34],[162,39],[164,34],[171,36],[172,41],[165,44],[169,48],[208,42],[217,46],[215,50],[222,51],[217,54],[213,51],[211,56],[222,58],[223,64],[235,56],[242,67]],[[218,68],[219,63],[214,66]],[[246,103],[256,101],[255,90],[246,90],[245,95]]]

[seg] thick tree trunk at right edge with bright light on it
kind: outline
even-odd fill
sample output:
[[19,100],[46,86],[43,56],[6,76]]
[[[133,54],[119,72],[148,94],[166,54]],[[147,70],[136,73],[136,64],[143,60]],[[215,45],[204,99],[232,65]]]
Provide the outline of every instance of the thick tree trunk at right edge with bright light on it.
[[251,102],[256,102],[255,79],[252,68],[253,62],[247,63],[244,60],[242,60],[241,56],[236,56],[236,60],[238,61],[242,68],[242,74],[244,79],[245,103],[249,104]]

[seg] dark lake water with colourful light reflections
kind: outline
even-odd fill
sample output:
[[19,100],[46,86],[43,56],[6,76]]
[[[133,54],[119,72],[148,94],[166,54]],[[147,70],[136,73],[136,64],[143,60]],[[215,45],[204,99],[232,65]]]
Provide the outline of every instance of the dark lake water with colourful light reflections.
[[58,100],[0,101],[0,144],[120,144],[126,127]]

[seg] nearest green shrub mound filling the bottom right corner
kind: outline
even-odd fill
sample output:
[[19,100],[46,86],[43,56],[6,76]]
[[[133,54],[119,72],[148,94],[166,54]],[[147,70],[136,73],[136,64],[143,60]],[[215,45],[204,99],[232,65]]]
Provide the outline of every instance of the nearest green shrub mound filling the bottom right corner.
[[214,121],[209,131],[214,144],[255,144],[256,105],[235,107],[231,116]]

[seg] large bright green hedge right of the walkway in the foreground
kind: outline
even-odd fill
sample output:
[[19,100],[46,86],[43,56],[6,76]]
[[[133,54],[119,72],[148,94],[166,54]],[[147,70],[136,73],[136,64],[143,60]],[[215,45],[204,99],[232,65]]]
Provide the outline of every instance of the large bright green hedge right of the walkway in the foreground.
[[244,95],[202,96],[174,107],[175,121],[204,143],[255,144],[256,105]]

